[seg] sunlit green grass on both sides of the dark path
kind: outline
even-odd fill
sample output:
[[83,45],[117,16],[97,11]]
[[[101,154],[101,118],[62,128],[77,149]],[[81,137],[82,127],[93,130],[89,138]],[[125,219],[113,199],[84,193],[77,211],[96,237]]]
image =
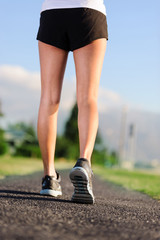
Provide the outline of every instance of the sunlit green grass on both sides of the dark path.
[[[55,163],[56,169],[71,169],[73,164],[73,161],[66,161],[65,159],[59,159]],[[43,166],[40,159],[6,155],[0,157],[0,178],[9,175],[26,175],[42,170]],[[136,190],[155,199],[160,199],[160,175],[158,174],[138,170],[109,169],[95,165],[93,166],[93,171],[103,180],[108,180],[127,189]]]

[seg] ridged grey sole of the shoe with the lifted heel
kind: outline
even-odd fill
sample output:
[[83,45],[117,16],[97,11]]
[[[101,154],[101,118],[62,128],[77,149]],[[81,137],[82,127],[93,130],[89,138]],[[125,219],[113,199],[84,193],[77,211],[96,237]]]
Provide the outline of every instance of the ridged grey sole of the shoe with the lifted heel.
[[89,187],[89,177],[86,170],[82,167],[75,167],[69,175],[74,185],[72,201],[77,203],[94,203],[93,192]]

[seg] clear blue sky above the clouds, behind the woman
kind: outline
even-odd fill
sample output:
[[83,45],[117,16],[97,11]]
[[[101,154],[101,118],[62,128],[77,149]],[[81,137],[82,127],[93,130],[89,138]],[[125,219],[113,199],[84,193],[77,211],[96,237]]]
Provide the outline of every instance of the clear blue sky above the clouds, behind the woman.
[[[0,66],[39,71],[36,34],[42,2],[0,0]],[[160,1],[105,0],[105,5],[109,41],[100,86],[132,107],[160,113]],[[74,76],[70,53],[65,78]]]

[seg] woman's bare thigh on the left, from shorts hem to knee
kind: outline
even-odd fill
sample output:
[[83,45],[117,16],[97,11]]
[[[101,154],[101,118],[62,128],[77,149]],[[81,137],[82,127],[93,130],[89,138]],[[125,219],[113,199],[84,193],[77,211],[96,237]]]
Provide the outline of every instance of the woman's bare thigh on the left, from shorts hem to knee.
[[60,99],[68,52],[39,41],[41,67],[41,97],[49,101]]

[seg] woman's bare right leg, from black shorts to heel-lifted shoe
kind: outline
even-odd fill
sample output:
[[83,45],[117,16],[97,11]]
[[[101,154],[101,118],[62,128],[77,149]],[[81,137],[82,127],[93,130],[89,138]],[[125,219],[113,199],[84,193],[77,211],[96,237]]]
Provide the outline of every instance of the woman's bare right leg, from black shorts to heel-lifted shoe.
[[98,129],[97,96],[106,50],[106,39],[98,39],[73,52],[77,77],[80,158],[91,160]]

